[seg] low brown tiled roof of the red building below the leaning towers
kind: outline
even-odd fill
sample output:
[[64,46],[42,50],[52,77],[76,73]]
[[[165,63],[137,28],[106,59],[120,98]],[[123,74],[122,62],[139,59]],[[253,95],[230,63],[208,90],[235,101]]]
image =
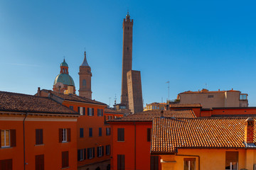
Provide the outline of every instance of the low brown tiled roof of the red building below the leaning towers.
[[[161,111],[144,111],[140,113],[134,113],[132,115],[126,115],[122,118],[110,120],[108,122],[129,122],[129,121],[152,121],[154,117],[161,116]],[[181,111],[164,111],[165,117],[174,118],[196,118],[195,113],[191,110]]]

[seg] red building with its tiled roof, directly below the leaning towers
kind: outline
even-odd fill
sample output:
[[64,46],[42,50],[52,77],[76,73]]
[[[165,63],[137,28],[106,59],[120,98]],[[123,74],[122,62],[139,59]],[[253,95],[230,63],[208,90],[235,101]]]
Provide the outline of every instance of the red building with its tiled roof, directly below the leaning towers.
[[[161,169],[159,157],[150,155],[152,119],[160,111],[146,111],[109,120],[111,125],[111,169]],[[194,118],[191,111],[164,111],[165,116]]]

